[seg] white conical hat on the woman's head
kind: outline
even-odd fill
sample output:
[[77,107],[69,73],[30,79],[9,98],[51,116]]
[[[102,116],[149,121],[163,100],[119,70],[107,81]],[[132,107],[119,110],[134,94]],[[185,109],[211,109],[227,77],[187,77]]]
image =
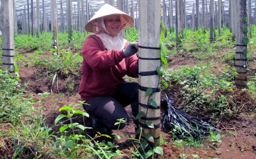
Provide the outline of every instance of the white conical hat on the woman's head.
[[107,3],[102,6],[100,8],[100,10],[98,10],[96,12],[96,14],[93,15],[93,17],[89,20],[88,23],[85,24],[85,30],[88,31],[88,32],[93,32],[93,21],[98,19],[98,18],[101,18],[103,16],[106,16],[106,15],[114,15],[114,14],[120,14],[120,20],[121,20],[121,23],[122,23],[122,29],[125,29],[127,27],[130,27],[131,24],[133,24],[134,20],[133,18],[126,14],[125,12],[121,11],[121,10],[118,10],[116,9],[115,7],[111,6],[111,5],[108,5]]

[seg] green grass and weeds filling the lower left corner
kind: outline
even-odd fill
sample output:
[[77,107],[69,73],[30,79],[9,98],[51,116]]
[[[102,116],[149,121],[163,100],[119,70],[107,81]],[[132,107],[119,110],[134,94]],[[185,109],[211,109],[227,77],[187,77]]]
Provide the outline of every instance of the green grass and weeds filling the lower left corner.
[[[42,107],[34,109],[34,97],[26,95],[19,84],[19,79],[0,70],[1,107],[0,107],[0,144],[4,149],[11,149],[8,158],[47,157],[44,149],[51,142],[51,128],[44,126]],[[26,85],[25,85],[26,86]],[[25,94],[24,94],[25,93]],[[42,94],[43,100],[47,93]],[[43,103],[43,102],[42,102]],[[8,141],[8,143],[4,142]]]

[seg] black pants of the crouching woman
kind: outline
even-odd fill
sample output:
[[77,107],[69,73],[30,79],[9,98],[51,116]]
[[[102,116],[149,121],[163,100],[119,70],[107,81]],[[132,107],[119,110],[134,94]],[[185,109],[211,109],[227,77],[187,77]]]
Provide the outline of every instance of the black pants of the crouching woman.
[[[117,119],[123,118],[126,124],[129,122],[129,116],[125,107],[131,104],[131,110],[135,117],[138,112],[138,83],[123,82],[121,83],[113,95],[102,95],[94,97],[89,101],[85,101],[83,107],[93,118],[103,119],[106,122],[106,127],[110,129],[118,129]],[[135,124],[138,121],[134,121]],[[122,129],[125,123],[119,125]]]

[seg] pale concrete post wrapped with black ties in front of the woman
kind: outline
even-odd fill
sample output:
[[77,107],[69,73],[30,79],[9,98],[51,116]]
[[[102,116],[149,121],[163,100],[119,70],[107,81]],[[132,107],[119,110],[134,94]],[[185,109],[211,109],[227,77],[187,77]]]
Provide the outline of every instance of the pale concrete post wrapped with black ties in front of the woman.
[[160,144],[160,1],[139,1],[139,119],[141,139]]

